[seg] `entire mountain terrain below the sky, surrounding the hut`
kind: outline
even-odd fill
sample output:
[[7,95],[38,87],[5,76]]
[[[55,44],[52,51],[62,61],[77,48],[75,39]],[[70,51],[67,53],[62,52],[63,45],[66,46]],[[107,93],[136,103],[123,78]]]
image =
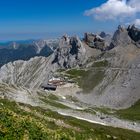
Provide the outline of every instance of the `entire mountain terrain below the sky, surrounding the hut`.
[[132,25],[1,48],[0,138],[139,140],[139,45]]

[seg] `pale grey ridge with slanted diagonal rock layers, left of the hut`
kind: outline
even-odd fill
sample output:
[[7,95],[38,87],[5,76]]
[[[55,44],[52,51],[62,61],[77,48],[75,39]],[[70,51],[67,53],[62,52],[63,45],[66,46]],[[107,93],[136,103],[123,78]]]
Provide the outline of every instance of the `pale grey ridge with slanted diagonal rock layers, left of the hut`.
[[34,57],[29,61],[18,60],[0,69],[0,83],[38,88],[51,76],[51,58]]

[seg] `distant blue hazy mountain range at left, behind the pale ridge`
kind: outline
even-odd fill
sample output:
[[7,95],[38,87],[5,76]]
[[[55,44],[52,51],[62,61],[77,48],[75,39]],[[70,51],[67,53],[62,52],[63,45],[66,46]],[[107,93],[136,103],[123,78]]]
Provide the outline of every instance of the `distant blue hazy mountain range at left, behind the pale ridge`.
[[25,40],[0,43],[0,67],[15,60],[29,60],[35,56],[48,57],[59,40]]

